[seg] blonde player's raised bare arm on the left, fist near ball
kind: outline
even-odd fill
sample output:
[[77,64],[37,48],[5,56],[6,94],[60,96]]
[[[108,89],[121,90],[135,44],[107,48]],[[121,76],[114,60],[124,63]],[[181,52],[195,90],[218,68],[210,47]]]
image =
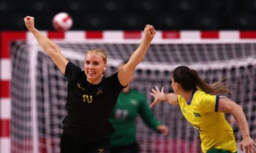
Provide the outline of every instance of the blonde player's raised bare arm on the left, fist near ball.
[[61,51],[59,50],[57,44],[53,43],[53,41],[42,35],[40,31],[35,29],[33,17],[26,16],[26,18],[24,18],[24,22],[27,29],[33,34],[44,52],[46,52],[46,54],[48,54],[52,58],[53,62],[57,65],[57,67],[59,67],[59,70],[62,73],[65,73],[68,60],[61,54]]

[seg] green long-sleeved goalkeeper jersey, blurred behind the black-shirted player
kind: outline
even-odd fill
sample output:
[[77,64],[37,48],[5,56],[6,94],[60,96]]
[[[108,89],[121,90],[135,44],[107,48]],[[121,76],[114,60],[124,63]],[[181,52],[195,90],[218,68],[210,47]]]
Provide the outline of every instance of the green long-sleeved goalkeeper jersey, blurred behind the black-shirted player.
[[115,132],[111,135],[111,146],[126,146],[136,142],[136,118],[140,115],[143,121],[156,130],[160,122],[156,120],[145,96],[137,90],[128,93],[120,92],[117,103],[111,112],[109,121]]

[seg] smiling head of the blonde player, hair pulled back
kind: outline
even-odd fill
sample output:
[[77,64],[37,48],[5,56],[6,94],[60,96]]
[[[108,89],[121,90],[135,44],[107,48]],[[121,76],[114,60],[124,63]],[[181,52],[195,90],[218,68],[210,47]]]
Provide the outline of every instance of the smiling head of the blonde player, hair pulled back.
[[85,56],[85,75],[91,84],[99,84],[102,74],[106,70],[106,63],[102,56],[96,52],[88,52]]

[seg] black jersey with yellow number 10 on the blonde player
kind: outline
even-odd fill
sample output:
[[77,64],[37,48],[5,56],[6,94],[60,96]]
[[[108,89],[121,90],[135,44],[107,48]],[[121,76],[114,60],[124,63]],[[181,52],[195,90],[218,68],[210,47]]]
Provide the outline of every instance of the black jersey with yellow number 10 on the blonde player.
[[90,84],[85,71],[69,62],[65,76],[68,79],[68,115],[63,120],[63,130],[86,141],[109,137],[114,131],[109,116],[124,88],[117,73],[102,78],[99,84]]

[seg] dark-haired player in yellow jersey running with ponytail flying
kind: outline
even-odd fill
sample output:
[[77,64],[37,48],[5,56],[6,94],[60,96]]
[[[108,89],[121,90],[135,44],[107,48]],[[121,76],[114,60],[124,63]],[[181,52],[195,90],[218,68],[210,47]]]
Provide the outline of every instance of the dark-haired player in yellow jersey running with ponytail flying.
[[242,107],[230,99],[220,96],[229,92],[223,80],[215,84],[207,84],[199,77],[197,71],[186,66],[177,67],[171,77],[171,87],[174,93],[165,94],[161,90],[152,88],[150,94],[154,107],[161,101],[172,105],[180,105],[182,114],[199,131],[201,149],[203,152],[237,152],[236,139],[233,129],[225,119],[224,113],[231,113],[237,120],[242,133],[240,148],[246,153],[255,153],[256,143],[250,136],[248,123]]

